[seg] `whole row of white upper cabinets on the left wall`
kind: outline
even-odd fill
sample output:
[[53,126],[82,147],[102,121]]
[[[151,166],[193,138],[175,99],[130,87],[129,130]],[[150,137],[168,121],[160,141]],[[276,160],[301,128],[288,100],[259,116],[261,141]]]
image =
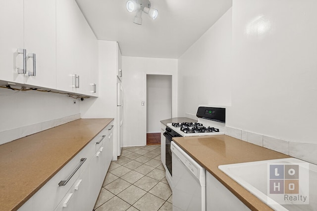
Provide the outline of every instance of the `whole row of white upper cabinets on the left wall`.
[[1,0],[0,27],[0,81],[98,96],[98,41],[75,0]]

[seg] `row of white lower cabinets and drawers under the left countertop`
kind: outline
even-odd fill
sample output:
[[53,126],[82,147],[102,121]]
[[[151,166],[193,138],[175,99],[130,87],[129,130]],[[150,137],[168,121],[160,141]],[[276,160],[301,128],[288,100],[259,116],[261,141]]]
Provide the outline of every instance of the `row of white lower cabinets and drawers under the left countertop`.
[[112,159],[112,125],[113,121],[18,211],[93,210]]

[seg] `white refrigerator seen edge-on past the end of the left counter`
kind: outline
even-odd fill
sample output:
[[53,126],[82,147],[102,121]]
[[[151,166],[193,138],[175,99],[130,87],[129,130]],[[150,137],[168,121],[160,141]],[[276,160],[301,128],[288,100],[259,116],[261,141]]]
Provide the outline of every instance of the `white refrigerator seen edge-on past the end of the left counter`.
[[121,81],[117,81],[117,155],[121,155],[123,146],[123,87]]

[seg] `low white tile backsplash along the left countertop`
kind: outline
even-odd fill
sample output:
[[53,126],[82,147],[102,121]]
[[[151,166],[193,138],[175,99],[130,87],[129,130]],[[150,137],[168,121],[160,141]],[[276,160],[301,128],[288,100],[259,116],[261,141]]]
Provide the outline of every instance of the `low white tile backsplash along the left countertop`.
[[59,119],[54,119],[42,123],[37,123],[29,126],[14,128],[10,130],[5,130],[0,132],[0,144],[4,144],[13,141],[18,138],[25,137],[52,127],[56,127],[74,120],[80,119],[80,114],[75,114]]

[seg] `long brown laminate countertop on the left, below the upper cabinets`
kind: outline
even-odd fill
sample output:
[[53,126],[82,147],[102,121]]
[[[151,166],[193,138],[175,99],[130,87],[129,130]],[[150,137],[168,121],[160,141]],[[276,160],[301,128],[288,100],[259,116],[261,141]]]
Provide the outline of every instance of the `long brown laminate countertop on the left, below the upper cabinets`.
[[79,119],[0,145],[0,211],[15,211],[113,119]]

